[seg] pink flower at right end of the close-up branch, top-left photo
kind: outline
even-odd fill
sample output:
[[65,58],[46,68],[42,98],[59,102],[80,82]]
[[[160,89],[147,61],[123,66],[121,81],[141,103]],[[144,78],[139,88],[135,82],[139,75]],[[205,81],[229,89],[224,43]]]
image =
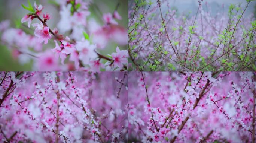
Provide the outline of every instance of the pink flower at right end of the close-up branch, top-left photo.
[[124,64],[126,65],[128,63],[128,51],[120,50],[119,47],[116,47],[116,53],[112,53],[111,56],[114,60],[114,67],[122,68]]

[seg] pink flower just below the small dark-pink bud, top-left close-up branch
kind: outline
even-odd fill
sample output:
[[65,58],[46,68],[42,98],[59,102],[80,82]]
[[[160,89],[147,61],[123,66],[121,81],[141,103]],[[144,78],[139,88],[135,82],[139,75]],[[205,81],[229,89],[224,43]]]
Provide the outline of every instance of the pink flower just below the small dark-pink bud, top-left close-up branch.
[[39,42],[45,41],[45,44],[48,43],[48,40],[52,38],[49,34],[49,27],[44,27],[42,23],[32,24],[33,27],[36,27],[34,34],[38,37]]

